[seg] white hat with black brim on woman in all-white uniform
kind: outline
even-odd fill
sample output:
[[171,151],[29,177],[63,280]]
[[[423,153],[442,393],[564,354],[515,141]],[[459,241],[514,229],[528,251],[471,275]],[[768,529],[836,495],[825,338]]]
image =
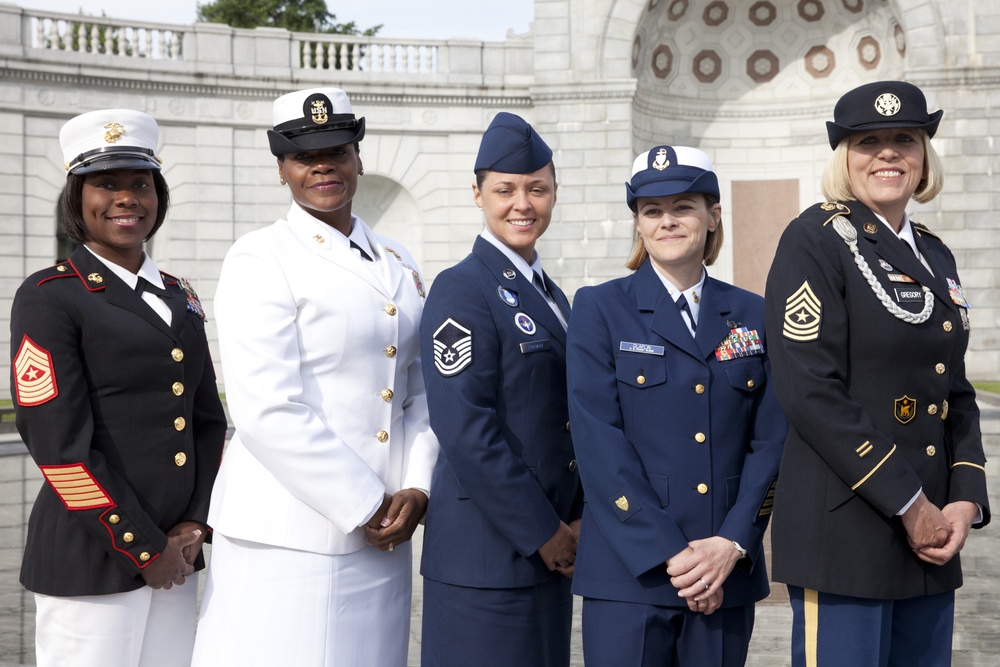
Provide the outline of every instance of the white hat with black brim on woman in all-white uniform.
[[365,119],[355,118],[347,93],[340,88],[309,88],[274,101],[274,129],[267,131],[271,154],[333,148],[361,141]]

